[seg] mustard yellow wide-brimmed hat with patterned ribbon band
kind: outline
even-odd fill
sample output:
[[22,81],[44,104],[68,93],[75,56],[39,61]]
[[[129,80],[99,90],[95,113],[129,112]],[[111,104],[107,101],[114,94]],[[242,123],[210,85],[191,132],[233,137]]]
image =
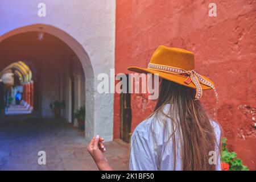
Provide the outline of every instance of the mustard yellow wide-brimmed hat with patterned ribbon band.
[[195,71],[194,53],[185,49],[159,46],[147,68],[129,67],[128,70],[138,73],[158,73],[159,77],[166,80],[196,89],[196,100],[201,98],[203,90],[213,89],[218,102],[213,81]]

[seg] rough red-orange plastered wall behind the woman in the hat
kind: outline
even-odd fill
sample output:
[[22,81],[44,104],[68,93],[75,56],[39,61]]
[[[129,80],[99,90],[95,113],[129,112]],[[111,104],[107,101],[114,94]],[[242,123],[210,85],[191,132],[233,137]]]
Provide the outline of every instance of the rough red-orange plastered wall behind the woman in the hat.
[[[196,71],[217,86],[220,102],[204,92],[208,113],[221,123],[228,147],[256,169],[256,1],[117,0],[115,72],[146,67],[159,45],[195,52]],[[132,94],[132,129],[154,108],[145,94]],[[253,119],[254,118],[254,119]],[[119,95],[114,101],[114,138],[119,138]]]

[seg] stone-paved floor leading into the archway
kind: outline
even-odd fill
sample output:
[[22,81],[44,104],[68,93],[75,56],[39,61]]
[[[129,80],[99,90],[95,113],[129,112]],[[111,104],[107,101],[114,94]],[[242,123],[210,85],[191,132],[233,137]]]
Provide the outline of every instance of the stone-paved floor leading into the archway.
[[[97,170],[84,134],[61,119],[11,116],[0,120],[0,170]],[[114,170],[126,170],[127,143],[106,142],[105,156]],[[46,165],[38,152],[46,152]]]

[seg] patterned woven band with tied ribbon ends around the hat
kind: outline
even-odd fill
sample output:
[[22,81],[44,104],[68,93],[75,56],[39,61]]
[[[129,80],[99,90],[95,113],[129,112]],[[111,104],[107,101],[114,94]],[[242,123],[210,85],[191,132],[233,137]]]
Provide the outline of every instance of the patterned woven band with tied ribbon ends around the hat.
[[172,73],[172,74],[176,74],[176,75],[181,75],[181,76],[184,76],[184,74],[188,75],[188,77],[184,81],[184,83],[189,84],[192,81],[193,84],[195,84],[195,86],[196,86],[195,99],[196,100],[200,100],[200,98],[203,96],[203,89],[200,85],[200,83],[201,83],[201,84],[210,86],[210,88],[212,88],[214,90],[216,100],[218,103],[218,94],[217,94],[217,90],[214,87],[214,85],[212,83],[210,83],[209,81],[205,80],[203,77],[201,77],[199,75],[199,73],[197,73],[195,71],[195,69],[192,69],[191,71],[185,71],[184,69],[181,69],[181,68],[175,68],[175,67],[170,67],[170,66],[160,65],[160,64],[153,64],[153,63],[149,63],[147,68],[154,69],[156,71],[162,71],[162,72]]

